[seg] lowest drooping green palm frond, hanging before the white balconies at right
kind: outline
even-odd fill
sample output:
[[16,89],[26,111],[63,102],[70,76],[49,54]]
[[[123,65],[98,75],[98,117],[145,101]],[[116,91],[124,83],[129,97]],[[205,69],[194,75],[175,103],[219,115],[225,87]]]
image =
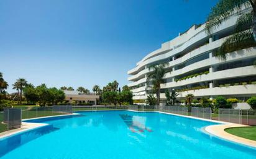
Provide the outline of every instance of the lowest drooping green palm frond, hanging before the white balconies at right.
[[237,51],[239,49],[249,48],[256,46],[254,41],[254,35],[252,30],[245,30],[243,32],[235,33],[227,38],[221,47],[216,52],[216,57],[222,60],[226,60],[227,53]]

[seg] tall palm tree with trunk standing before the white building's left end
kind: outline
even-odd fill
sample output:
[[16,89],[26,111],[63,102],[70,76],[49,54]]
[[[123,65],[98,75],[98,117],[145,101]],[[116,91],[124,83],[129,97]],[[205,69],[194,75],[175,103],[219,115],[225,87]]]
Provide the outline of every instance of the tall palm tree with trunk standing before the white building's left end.
[[163,79],[166,71],[165,71],[165,64],[155,65],[149,67],[150,72],[147,75],[147,87],[153,88],[157,94],[157,105],[160,105],[160,90],[161,84],[165,82]]

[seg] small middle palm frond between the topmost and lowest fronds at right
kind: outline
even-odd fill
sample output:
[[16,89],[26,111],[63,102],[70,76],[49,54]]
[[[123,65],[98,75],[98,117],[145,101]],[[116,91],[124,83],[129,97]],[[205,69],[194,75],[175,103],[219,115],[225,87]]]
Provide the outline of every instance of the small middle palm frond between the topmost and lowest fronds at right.
[[251,13],[242,14],[235,24],[235,32],[242,32],[246,28],[250,28],[252,26],[252,18],[253,15]]

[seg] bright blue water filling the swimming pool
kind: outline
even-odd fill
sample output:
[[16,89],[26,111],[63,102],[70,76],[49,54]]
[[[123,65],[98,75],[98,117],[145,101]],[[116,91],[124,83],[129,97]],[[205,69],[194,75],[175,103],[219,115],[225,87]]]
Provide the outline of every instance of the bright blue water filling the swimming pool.
[[76,118],[0,139],[2,159],[256,158],[254,148],[211,137],[213,122],[162,113],[81,112]]

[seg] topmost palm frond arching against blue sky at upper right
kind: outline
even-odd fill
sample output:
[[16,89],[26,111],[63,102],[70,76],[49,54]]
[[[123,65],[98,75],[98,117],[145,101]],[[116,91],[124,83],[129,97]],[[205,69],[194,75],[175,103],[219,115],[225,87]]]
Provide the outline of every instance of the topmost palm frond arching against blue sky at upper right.
[[235,12],[240,12],[242,4],[251,7],[249,0],[221,0],[211,9],[206,22],[206,32],[210,35],[213,28],[219,27],[222,20],[226,20]]

